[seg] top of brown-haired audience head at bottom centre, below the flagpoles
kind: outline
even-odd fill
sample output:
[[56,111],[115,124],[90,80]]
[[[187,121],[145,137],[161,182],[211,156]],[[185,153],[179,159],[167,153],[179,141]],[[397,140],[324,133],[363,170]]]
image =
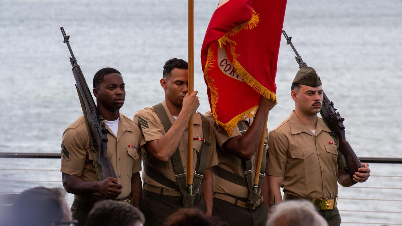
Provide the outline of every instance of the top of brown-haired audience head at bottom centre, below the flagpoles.
[[166,220],[165,226],[229,226],[218,218],[206,216],[201,210],[181,208]]

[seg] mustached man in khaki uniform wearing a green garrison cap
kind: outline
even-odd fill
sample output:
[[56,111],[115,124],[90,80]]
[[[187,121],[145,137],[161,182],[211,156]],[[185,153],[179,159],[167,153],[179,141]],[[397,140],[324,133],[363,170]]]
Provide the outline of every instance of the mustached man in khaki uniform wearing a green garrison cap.
[[[315,70],[301,68],[293,80],[291,97],[295,110],[269,133],[267,174],[271,204],[284,200],[307,199],[330,226],[340,225],[336,208],[338,185],[353,185],[345,173],[336,140],[317,117],[322,105],[322,83]],[[365,182],[370,176],[367,163],[353,175],[353,181]]]

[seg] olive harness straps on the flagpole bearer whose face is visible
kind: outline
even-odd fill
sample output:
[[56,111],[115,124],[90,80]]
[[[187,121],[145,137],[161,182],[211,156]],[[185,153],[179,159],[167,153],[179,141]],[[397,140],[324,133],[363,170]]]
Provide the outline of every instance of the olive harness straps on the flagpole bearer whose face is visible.
[[[155,113],[158,115],[162,125],[164,127],[165,134],[168,132],[172,124],[170,123],[170,119],[166,114],[166,111],[161,103],[153,106]],[[200,114],[201,115],[201,114]],[[195,174],[193,179],[193,190],[197,191],[198,187],[203,178],[203,174],[205,168],[207,167],[207,157],[208,152],[211,146],[211,137],[210,137],[210,126],[209,119],[204,115],[201,115],[202,119],[202,129],[204,135],[204,142],[201,145],[201,150],[197,156],[197,164],[195,166]],[[149,166],[146,162],[144,162],[144,172],[145,174],[153,179],[154,181],[176,191],[180,191],[183,195],[183,206],[184,207],[192,207],[195,199],[195,195],[190,195],[187,193],[187,181],[186,181],[186,172],[184,171],[183,162],[181,161],[180,151],[177,147],[176,151],[170,157],[173,164],[174,170],[174,178],[176,181],[172,181],[166,177],[164,177],[158,170]],[[189,166],[192,167],[192,166]]]

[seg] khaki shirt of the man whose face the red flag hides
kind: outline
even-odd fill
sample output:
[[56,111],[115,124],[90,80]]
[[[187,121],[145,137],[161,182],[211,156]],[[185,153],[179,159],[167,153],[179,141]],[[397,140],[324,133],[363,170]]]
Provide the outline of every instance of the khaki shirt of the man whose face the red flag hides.
[[[234,173],[236,175],[239,175],[241,177],[244,177],[244,166],[243,166],[242,160],[240,158],[236,157],[234,154],[231,154],[230,152],[226,152],[226,151],[222,150],[223,144],[227,140],[229,140],[229,138],[233,138],[235,136],[242,136],[238,126],[236,126],[234,128],[234,130],[232,132],[232,136],[229,136],[222,127],[216,126],[215,119],[213,118],[211,111],[207,111],[205,113],[205,116],[207,116],[209,121],[211,122],[211,124],[214,125],[215,136],[216,136],[217,144],[219,145],[219,149],[217,150],[218,158],[219,158],[218,167],[223,168],[224,170],[227,170],[227,171]],[[250,128],[250,125],[252,124],[253,120],[254,120],[254,118],[251,117],[251,118],[249,118],[250,122],[242,121],[243,127],[245,130],[248,130],[248,128]],[[265,138],[265,141],[267,141],[267,138]],[[256,171],[257,156],[258,156],[258,150],[255,152],[255,154],[251,158],[252,179],[253,180],[254,180],[254,175],[255,175],[255,171]],[[261,167],[264,167],[264,166],[261,166]],[[236,196],[236,197],[240,197],[240,198],[248,197],[248,189],[246,187],[237,185],[230,181],[226,181],[216,175],[213,175],[213,192],[228,194],[228,195]]]

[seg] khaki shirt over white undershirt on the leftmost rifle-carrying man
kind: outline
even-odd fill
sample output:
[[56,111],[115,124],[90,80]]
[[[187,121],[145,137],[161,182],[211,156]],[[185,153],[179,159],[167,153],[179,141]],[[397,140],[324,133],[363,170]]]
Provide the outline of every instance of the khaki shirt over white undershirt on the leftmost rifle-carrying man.
[[[126,197],[131,192],[131,175],[141,171],[141,131],[138,126],[120,114],[117,137],[109,129],[107,134],[107,155],[123,189],[119,197]],[[93,164],[92,150],[89,146],[88,130],[84,116],[79,117],[63,133],[62,173],[77,175],[85,181],[97,181]],[[96,193],[99,195],[98,193]]]

